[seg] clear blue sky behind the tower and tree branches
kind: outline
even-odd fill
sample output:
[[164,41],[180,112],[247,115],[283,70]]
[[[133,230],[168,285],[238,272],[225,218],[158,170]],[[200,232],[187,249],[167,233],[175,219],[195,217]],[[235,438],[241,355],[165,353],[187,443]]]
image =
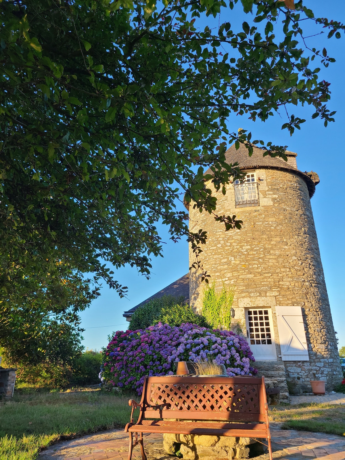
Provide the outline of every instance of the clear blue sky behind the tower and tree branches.
[[[321,0],[305,1],[316,17],[328,17],[345,23],[345,3],[341,0],[325,2]],[[229,18],[226,18],[226,14]],[[239,24],[248,18],[237,11],[226,11],[220,21],[230,20]],[[218,25],[219,18],[203,19],[200,26]],[[233,27],[239,31],[239,27]],[[316,30],[314,28],[314,30]],[[322,29],[317,28],[317,31]],[[312,35],[313,29],[310,34]],[[311,199],[314,213],[316,232],[319,240],[323,269],[328,289],[328,296],[335,330],[338,332],[339,347],[345,345],[345,311],[344,311],[344,275],[345,275],[345,245],[344,245],[344,211],[345,211],[345,160],[344,160],[344,131],[345,131],[345,37],[327,40],[326,34],[307,39],[307,44],[317,49],[327,48],[328,54],[335,57],[336,62],[328,69],[321,70],[321,76],[331,83],[332,97],[328,104],[330,110],[336,110],[335,123],[327,128],[319,119],[311,120],[314,112],[310,107],[294,108],[294,113],[307,121],[292,137],[281,126],[286,121],[284,114],[270,117],[265,123],[247,120],[246,116],[228,120],[228,127],[237,131],[239,127],[250,130],[254,139],[263,139],[274,144],[288,145],[288,150],[298,154],[297,166],[302,171],[316,171],[320,176],[320,184]],[[315,67],[319,66],[315,62]],[[320,66],[321,67],[321,66]],[[129,310],[150,295],[166,287],[171,282],[188,272],[188,245],[181,241],[173,243],[169,240],[164,226],[158,225],[162,236],[164,257],[152,260],[150,280],[138,275],[135,268],[130,266],[115,270],[116,279],[128,287],[128,298],[120,299],[114,290],[107,286],[101,289],[101,296],[96,299],[89,309],[81,313],[81,326],[85,328],[83,345],[87,348],[100,350],[108,344],[108,335],[115,330],[126,329],[123,311]]]

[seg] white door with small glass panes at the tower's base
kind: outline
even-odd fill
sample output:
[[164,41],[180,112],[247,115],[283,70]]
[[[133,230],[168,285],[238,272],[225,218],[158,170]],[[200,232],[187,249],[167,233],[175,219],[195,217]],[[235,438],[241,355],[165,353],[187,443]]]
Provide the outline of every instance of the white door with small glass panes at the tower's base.
[[247,339],[258,361],[276,360],[272,312],[270,308],[246,310]]

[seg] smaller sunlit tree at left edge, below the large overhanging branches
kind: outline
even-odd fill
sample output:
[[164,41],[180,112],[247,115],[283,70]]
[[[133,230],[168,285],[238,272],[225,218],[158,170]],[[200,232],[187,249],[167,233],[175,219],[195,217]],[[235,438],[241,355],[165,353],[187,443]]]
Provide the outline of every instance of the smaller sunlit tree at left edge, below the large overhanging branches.
[[[20,269],[0,286],[0,345],[12,362],[70,363],[81,346],[79,311],[98,296],[91,279],[58,261],[44,273]],[[16,270],[12,273],[17,275]]]

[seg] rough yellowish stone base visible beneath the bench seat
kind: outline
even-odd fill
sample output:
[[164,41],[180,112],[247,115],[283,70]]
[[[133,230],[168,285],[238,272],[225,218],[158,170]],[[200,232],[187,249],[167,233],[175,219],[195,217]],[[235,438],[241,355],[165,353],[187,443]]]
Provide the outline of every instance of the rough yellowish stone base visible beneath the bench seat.
[[188,460],[248,458],[248,446],[254,443],[258,444],[249,437],[163,434],[163,446],[167,454],[173,455],[179,450],[183,458]]

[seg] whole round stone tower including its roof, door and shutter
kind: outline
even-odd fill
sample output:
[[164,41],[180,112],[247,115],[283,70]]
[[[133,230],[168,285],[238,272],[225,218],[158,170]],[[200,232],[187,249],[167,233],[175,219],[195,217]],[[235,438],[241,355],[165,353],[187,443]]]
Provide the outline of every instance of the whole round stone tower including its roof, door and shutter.
[[[217,196],[218,214],[243,221],[242,230],[225,231],[212,215],[190,206],[190,230],[207,230],[202,264],[216,290],[235,289],[233,325],[247,336],[257,364],[266,373],[284,370],[301,389],[325,380],[333,389],[341,367],[323,275],[311,196],[316,173],[297,169],[296,156],[263,157],[264,151],[235,145],[227,163],[238,163],[246,182],[229,184]],[[195,261],[190,251],[190,265]],[[190,305],[200,311],[204,284],[190,271]],[[278,370],[279,370],[278,369]]]

